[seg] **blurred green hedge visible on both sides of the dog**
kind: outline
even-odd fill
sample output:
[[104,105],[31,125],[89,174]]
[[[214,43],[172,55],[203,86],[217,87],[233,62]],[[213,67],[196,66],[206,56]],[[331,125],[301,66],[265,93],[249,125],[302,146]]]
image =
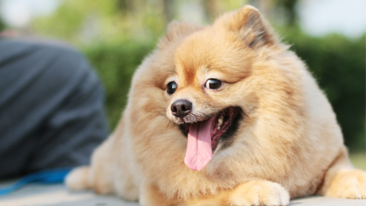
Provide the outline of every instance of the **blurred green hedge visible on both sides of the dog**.
[[[309,70],[325,91],[343,128],[346,145],[353,151],[365,150],[365,36],[350,41],[330,35],[314,38],[298,29],[280,31],[284,41],[308,64]],[[97,68],[107,93],[111,128],[117,124],[131,77],[155,42],[122,41],[84,47]]]

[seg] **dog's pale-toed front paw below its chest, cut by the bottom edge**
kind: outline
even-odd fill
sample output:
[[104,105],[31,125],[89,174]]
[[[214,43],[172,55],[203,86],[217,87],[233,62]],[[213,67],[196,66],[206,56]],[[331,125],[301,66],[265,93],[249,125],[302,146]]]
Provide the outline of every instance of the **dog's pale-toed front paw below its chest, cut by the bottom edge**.
[[234,206],[286,206],[290,195],[277,183],[251,180],[235,189],[230,202]]

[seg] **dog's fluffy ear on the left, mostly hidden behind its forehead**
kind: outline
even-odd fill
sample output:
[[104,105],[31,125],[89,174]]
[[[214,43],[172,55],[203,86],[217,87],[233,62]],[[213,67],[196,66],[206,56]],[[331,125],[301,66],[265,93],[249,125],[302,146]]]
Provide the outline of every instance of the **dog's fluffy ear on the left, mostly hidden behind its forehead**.
[[176,40],[177,38],[182,38],[188,36],[195,31],[202,29],[202,26],[193,22],[187,21],[172,21],[169,23],[166,30],[166,35],[160,39],[158,47],[162,48],[167,43]]

